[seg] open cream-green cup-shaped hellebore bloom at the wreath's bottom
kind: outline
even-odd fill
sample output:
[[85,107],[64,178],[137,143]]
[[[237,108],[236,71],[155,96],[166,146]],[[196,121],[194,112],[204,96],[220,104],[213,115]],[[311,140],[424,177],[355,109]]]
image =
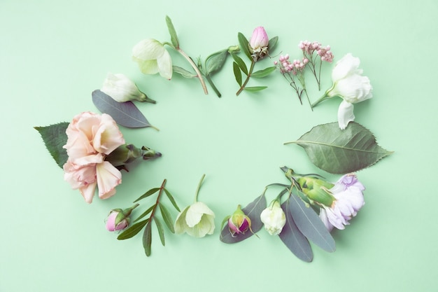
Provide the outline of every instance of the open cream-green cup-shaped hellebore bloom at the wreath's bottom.
[[187,232],[192,237],[204,237],[214,232],[214,213],[203,202],[195,202],[186,207],[175,221],[175,232]]

